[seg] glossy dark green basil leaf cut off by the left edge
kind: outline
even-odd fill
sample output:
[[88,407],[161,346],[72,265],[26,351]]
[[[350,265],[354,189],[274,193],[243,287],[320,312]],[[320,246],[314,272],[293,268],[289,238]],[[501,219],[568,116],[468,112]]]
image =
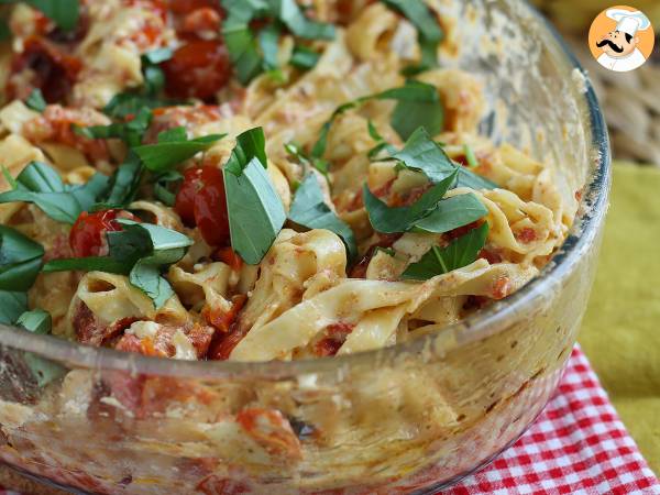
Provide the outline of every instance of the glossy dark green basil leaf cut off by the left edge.
[[38,275],[44,248],[10,227],[0,226],[0,290],[26,292]]

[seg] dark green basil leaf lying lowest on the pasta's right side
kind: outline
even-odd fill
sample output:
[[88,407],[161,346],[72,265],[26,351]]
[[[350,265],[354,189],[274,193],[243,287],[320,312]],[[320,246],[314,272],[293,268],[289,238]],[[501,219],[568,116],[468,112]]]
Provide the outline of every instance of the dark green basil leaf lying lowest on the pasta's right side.
[[403,273],[403,279],[426,280],[436,275],[462,268],[476,261],[488,237],[488,223],[484,222],[464,235],[454,239],[446,248],[433,246],[417,263]]

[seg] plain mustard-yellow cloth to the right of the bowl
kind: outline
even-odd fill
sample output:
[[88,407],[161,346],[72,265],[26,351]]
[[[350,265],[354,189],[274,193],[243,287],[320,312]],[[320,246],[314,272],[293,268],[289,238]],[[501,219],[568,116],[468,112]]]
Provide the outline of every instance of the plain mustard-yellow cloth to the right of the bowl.
[[605,239],[579,341],[660,474],[660,168],[614,166]]

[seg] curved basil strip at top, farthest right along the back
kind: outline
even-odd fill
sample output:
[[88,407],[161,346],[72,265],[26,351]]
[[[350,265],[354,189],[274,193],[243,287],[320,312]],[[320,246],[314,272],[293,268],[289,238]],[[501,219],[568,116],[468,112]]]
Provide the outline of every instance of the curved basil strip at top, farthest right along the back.
[[404,15],[417,29],[417,40],[421,51],[421,63],[417,67],[407,67],[407,75],[417,74],[438,65],[438,45],[444,33],[433,12],[422,0],[381,0],[389,9]]

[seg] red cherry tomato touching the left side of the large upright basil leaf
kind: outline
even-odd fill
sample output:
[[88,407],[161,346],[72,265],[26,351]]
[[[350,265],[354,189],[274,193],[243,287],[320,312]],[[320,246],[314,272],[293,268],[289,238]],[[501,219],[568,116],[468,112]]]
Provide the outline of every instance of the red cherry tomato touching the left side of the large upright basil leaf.
[[199,228],[208,244],[229,242],[224,178],[219,168],[201,166],[186,170],[174,208],[186,224]]

